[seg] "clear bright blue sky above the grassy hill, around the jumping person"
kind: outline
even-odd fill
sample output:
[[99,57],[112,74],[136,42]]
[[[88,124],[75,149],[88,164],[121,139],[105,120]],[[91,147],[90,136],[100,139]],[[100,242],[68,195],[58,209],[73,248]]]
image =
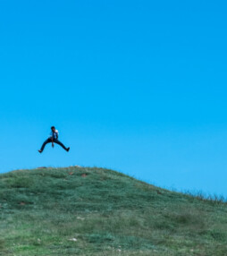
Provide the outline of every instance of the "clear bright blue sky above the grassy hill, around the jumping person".
[[[0,1],[0,172],[102,166],[227,197],[226,1]],[[55,125],[71,146],[38,149]]]

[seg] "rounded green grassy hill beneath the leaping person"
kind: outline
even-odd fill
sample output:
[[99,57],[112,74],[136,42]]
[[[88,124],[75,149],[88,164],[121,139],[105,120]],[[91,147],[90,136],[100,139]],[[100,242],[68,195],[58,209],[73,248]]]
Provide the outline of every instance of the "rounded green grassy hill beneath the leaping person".
[[102,168],[0,175],[0,255],[227,255],[227,204]]

